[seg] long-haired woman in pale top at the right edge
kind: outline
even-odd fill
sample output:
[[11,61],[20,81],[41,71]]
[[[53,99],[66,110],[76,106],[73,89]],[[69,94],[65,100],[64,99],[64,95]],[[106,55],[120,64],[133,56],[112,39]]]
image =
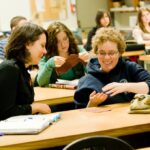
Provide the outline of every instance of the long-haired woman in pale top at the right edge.
[[138,11],[137,26],[132,32],[133,38],[138,44],[145,44],[150,49],[150,9],[141,8]]

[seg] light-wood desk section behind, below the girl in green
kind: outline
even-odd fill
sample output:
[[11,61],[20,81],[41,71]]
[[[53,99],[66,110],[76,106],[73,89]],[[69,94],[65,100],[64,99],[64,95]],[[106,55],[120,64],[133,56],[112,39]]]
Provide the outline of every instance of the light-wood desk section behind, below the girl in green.
[[35,87],[35,102],[49,105],[73,102],[75,90]]

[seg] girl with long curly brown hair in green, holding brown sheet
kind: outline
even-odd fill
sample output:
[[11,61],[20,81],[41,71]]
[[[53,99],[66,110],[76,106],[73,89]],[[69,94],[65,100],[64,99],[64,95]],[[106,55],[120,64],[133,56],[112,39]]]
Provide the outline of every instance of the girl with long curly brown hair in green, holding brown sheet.
[[[77,46],[73,33],[60,22],[50,24],[47,32],[47,54],[39,63],[36,84],[48,86],[57,79],[74,80],[82,77],[86,72],[88,52]],[[76,54],[78,58],[71,56],[72,54]],[[70,56],[67,64],[67,58]]]

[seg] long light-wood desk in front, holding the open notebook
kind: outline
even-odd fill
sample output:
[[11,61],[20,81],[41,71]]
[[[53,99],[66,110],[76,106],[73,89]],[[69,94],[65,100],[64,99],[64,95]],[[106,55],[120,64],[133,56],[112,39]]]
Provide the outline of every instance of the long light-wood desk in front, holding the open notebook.
[[61,112],[61,119],[40,134],[1,136],[0,149],[42,149],[86,136],[118,137],[149,131],[150,114],[128,114],[128,108],[125,103]]

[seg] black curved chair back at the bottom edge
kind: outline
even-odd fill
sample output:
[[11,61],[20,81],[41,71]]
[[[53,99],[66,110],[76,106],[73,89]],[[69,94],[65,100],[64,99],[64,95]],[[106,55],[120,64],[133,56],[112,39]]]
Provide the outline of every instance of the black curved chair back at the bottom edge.
[[134,150],[127,142],[110,136],[91,136],[75,140],[63,150]]

